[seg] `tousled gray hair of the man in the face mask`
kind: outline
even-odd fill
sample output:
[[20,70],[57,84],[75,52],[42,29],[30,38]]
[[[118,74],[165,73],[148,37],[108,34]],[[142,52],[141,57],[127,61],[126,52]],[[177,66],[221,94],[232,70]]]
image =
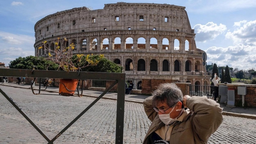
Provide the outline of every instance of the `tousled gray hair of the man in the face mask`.
[[183,94],[180,88],[173,83],[160,84],[158,88],[152,93],[153,106],[156,107],[160,102],[166,102],[169,107],[175,103],[183,100]]

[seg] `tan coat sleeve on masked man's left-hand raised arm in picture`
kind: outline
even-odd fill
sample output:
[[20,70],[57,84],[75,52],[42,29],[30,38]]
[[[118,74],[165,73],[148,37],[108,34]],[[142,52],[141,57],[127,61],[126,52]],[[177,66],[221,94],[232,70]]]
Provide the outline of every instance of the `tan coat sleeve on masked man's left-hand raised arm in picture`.
[[143,101],[143,106],[144,106],[144,110],[148,116],[148,119],[153,122],[153,120],[155,119],[155,117],[158,115],[158,113],[153,109],[153,104],[152,104],[152,96],[146,98]]

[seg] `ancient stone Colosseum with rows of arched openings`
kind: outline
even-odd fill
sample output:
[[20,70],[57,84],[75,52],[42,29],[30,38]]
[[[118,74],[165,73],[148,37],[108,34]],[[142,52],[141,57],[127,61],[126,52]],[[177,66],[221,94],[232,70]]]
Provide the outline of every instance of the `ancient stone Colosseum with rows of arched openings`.
[[[35,55],[48,57],[42,41],[54,48],[76,45],[74,53],[104,54],[122,66],[126,79],[177,78],[192,85],[210,84],[203,52],[196,48],[185,7],[170,4],[117,3],[56,12],[35,24]],[[178,46],[175,46],[175,44]],[[186,44],[185,44],[186,43]],[[187,47],[186,47],[187,45]],[[137,82],[136,82],[137,80]],[[139,87],[137,88],[139,89]]]

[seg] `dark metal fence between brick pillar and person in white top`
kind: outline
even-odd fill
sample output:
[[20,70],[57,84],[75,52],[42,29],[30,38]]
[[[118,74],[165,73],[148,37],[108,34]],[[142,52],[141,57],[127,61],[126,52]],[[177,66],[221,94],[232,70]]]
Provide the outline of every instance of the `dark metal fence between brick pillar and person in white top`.
[[189,96],[207,96],[214,99],[214,86],[211,85],[188,85]]

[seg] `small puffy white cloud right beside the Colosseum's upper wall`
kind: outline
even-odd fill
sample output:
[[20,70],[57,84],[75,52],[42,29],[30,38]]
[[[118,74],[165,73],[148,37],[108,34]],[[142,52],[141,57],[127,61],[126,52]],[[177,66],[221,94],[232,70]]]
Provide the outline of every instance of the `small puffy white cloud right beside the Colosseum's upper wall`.
[[193,29],[195,29],[196,41],[205,43],[224,33],[227,27],[223,24],[218,26],[216,23],[208,22],[206,25],[196,24]]

